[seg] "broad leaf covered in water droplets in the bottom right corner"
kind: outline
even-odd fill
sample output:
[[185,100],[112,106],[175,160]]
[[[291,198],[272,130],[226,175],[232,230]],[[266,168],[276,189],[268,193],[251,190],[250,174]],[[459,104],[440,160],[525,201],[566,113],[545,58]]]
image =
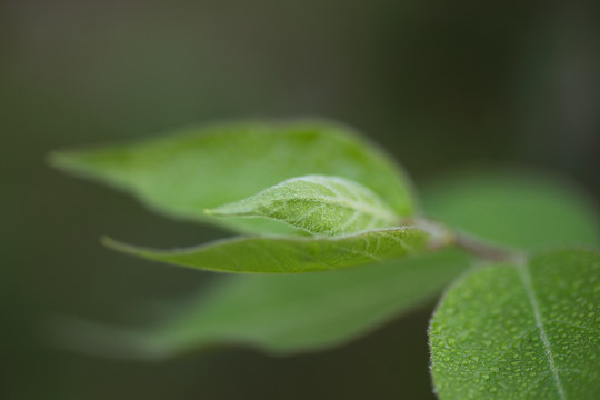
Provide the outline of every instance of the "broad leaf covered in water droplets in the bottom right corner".
[[442,400],[596,399],[600,253],[561,250],[478,270],[450,289],[430,327]]

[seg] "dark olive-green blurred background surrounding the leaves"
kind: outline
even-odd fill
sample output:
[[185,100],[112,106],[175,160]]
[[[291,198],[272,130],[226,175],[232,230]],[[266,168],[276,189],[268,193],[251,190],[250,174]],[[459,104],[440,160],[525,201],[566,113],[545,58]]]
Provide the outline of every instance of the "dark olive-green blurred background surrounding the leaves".
[[[322,116],[381,142],[418,182],[524,164],[600,197],[600,3],[3,0],[2,399],[429,399],[433,304],[351,346],[147,364],[69,353],[48,318],[130,323],[210,276],[102,249],[226,236],[47,168],[57,148],[243,117]],[[151,307],[149,304],[152,304]]]

